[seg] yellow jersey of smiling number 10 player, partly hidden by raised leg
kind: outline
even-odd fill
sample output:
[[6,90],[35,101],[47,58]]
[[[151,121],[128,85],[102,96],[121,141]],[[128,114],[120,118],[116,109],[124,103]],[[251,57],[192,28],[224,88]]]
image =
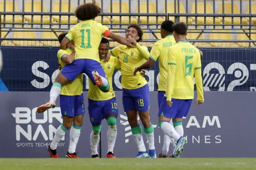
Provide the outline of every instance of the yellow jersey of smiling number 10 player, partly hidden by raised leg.
[[104,63],[105,59],[100,60],[100,65],[104,69],[109,82],[109,92],[104,93],[98,88],[97,85],[93,85],[93,82],[89,79],[89,91],[87,97],[94,101],[106,101],[115,97],[115,91],[112,86],[112,76],[115,69],[120,69],[120,62],[118,58],[111,56],[109,61]]

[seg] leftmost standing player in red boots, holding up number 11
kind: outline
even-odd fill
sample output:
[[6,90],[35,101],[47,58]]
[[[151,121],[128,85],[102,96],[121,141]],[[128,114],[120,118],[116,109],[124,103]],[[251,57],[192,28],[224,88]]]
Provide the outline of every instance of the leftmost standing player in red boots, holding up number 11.
[[[59,42],[67,35],[67,32],[61,33],[58,37]],[[74,47],[74,41],[67,44],[66,50],[60,49],[57,57],[61,68],[66,64],[70,64],[74,60],[75,51],[71,49]],[[80,136],[80,130],[83,124],[83,115],[85,113],[83,101],[83,74],[61,89],[59,96],[61,115],[63,123],[57,128],[52,143],[48,146],[50,157],[58,158],[56,151],[57,145],[65,133],[70,129],[69,150],[66,154],[67,158],[78,158],[76,151],[76,144]]]

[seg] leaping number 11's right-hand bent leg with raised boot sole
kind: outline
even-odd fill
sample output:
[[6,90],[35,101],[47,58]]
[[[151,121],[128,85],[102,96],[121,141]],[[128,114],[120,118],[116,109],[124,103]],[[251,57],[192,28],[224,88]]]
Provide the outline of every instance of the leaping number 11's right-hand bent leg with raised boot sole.
[[109,91],[109,82],[104,72],[104,69],[99,62],[91,59],[85,59],[83,72],[91,79],[93,84],[96,84],[101,91]]

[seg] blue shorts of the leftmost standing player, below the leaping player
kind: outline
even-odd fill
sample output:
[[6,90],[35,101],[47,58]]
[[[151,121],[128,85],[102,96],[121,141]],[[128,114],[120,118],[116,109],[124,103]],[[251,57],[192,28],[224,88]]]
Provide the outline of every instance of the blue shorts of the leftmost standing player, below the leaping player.
[[74,117],[85,113],[83,93],[79,96],[59,95],[61,115]]

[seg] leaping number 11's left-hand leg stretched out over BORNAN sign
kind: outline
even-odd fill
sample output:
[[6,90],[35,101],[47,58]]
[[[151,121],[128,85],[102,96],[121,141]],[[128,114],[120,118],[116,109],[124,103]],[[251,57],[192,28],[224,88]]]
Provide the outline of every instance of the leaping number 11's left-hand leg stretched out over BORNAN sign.
[[58,98],[61,92],[61,86],[67,84],[69,80],[74,81],[76,77],[82,72],[83,69],[83,60],[77,59],[72,62],[72,64],[66,64],[61,72],[56,77],[52,88],[50,90],[50,101],[46,104],[43,104],[37,108],[38,113],[43,113],[50,108],[55,108],[56,99]]

